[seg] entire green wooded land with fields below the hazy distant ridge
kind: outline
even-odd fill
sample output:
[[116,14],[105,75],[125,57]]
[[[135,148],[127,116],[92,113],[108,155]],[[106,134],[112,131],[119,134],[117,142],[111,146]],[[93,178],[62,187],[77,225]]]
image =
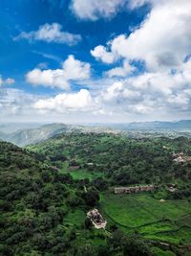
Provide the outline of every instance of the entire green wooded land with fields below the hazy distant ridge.
[[[69,133],[26,149],[1,141],[1,254],[189,255],[190,153],[184,137]],[[156,189],[114,194],[141,184]],[[94,207],[106,229],[87,219]]]

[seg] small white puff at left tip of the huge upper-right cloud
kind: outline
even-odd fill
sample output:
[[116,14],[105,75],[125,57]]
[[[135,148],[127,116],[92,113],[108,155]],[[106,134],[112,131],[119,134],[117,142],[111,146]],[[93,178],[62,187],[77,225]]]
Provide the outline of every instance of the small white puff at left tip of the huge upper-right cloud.
[[105,63],[111,64],[115,61],[116,55],[112,52],[109,53],[106,49],[106,47],[102,45],[98,45],[95,47],[94,50],[91,50],[91,55],[95,57],[96,59],[99,59]]

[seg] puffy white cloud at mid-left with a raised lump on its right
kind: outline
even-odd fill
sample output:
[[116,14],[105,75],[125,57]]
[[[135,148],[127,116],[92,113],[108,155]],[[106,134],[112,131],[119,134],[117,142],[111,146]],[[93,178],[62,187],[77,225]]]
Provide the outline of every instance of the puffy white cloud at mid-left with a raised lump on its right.
[[45,70],[35,68],[26,75],[26,80],[33,85],[69,89],[71,81],[84,81],[90,78],[90,74],[90,64],[71,55],[62,62],[62,68]]

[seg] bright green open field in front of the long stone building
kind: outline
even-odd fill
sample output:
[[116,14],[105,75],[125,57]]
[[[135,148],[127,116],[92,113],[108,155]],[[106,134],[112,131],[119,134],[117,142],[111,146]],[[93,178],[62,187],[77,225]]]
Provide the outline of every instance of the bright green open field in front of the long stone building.
[[137,230],[148,239],[191,243],[191,205],[186,199],[161,202],[149,193],[107,193],[102,195],[100,204],[106,219],[126,233]]

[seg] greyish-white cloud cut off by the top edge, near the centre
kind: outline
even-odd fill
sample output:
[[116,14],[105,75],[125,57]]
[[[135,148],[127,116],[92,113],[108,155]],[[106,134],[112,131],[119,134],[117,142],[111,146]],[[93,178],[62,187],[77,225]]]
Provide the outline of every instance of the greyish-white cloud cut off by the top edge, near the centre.
[[127,0],[73,0],[71,9],[80,19],[110,18],[127,3]]

